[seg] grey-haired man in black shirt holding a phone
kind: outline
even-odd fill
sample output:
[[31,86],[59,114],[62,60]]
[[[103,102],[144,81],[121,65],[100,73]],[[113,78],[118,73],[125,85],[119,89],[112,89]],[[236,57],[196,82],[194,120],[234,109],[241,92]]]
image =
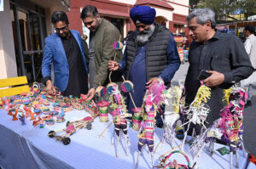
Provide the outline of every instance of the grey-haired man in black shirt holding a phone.
[[189,14],[189,35],[193,38],[189,50],[189,70],[185,80],[186,104],[195,99],[201,86],[197,79],[201,70],[207,70],[212,75],[204,82],[211,87],[211,99],[207,104],[210,113],[207,115],[207,125],[220,117],[224,108],[224,89],[247,78],[253,73],[253,66],[241,40],[227,33],[215,30],[215,14],[210,8],[199,8]]

